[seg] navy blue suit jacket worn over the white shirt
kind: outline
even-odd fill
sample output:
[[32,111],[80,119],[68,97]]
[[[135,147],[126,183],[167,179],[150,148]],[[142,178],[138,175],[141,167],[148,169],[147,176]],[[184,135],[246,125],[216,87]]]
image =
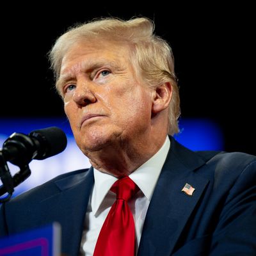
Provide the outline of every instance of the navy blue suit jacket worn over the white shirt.
[[[62,252],[77,256],[93,182],[92,168],[78,170],[13,198],[0,210],[1,236],[58,221]],[[138,256],[256,255],[255,187],[255,156],[192,152],[171,138]]]

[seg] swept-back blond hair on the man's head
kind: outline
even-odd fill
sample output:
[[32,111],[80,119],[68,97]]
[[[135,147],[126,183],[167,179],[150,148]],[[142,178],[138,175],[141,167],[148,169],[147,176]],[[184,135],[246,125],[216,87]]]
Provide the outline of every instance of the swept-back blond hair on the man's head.
[[114,40],[131,45],[131,62],[136,73],[150,86],[169,82],[172,84],[172,99],[168,113],[168,133],[179,132],[180,99],[174,72],[172,49],[168,43],[154,35],[154,22],[147,18],[120,20],[106,18],[93,20],[69,29],[60,36],[52,47],[49,57],[56,80],[60,77],[61,61],[68,49],[76,42],[86,40]]

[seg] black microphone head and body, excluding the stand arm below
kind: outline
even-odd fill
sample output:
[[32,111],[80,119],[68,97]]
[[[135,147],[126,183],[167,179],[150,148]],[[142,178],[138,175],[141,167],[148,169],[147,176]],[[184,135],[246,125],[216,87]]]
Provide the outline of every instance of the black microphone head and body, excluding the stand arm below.
[[3,143],[5,161],[24,166],[33,159],[42,160],[59,154],[67,147],[67,136],[58,127],[31,131],[28,135],[13,133]]

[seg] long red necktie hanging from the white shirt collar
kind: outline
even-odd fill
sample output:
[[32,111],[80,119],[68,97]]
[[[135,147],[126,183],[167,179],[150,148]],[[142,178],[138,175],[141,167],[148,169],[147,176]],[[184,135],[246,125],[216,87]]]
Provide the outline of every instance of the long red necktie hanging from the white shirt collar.
[[93,256],[134,256],[135,227],[127,201],[138,190],[129,177],[113,184],[111,191],[116,193],[116,201],[100,230]]

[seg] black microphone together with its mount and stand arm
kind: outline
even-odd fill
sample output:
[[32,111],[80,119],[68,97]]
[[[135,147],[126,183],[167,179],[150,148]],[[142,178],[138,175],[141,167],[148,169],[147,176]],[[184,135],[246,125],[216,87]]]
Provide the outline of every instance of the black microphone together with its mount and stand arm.
[[[10,200],[14,187],[26,180],[31,171],[29,163],[33,159],[42,160],[62,152],[67,146],[66,134],[58,127],[48,127],[31,131],[28,135],[13,133],[0,148],[0,195],[8,193],[5,198],[0,198],[0,203]],[[13,177],[6,161],[20,167],[20,171]]]

